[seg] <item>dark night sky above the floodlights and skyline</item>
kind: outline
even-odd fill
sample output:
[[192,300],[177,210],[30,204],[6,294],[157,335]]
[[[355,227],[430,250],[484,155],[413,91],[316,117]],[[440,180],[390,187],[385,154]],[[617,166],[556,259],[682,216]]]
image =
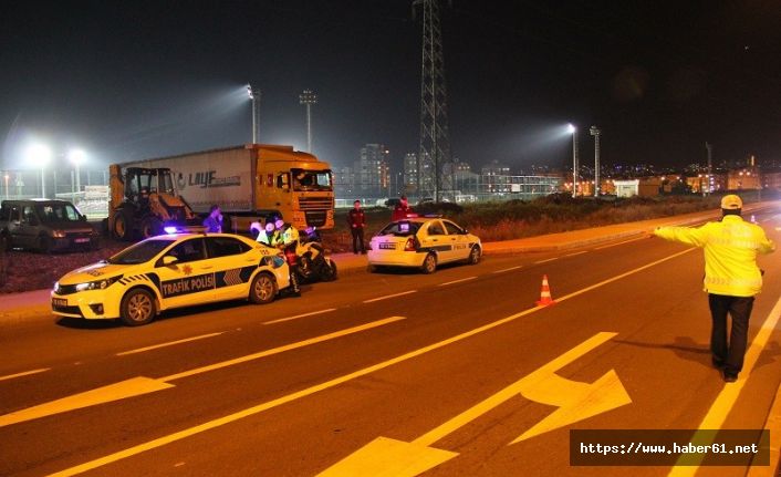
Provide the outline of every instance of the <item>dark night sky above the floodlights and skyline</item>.
[[[447,2],[445,2],[447,4]],[[0,7],[0,168],[33,142],[93,164],[260,142],[393,166],[419,135],[412,1],[18,1]],[[781,2],[468,1],[442,18],[451,151],[479,166],[566,167],[579,126],[605,163],[781,159]]]

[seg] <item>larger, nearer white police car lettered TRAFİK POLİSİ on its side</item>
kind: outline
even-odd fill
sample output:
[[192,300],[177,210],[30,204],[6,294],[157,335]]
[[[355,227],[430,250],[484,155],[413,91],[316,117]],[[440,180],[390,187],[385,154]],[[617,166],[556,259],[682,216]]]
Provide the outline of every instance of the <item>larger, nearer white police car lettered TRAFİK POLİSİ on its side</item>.
[[242,298],[269,303],[289,286],[275,248],[231,234],[163,235],[62,277],[52,312],[136,326],[173,308]]

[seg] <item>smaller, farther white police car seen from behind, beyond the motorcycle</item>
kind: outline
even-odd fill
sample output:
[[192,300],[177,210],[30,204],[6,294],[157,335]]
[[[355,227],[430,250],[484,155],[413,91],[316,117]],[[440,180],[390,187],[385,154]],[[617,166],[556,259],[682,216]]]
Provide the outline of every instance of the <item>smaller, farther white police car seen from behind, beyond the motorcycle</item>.
[[396,220],[372,238],[369,270],[377,267],[413,267],[433,273],[437,266],[454,261],[475,265],[482,246],[477,236],[440,217]]

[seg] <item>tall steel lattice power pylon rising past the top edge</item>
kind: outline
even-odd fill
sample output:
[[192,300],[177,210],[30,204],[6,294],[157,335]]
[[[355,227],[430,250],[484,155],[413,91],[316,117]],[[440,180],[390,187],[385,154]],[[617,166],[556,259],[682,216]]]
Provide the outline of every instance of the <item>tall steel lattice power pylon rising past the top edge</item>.
[[420,72],[420,147],[417,188],[420,197],[433,195],[441,199],[442,189],[452,189],[455,167],[450,176],[444,166],[450,163],[450,137],[447,117],[445,58],[440,27],[440,0],[414,0],[423,9],[423,65]]

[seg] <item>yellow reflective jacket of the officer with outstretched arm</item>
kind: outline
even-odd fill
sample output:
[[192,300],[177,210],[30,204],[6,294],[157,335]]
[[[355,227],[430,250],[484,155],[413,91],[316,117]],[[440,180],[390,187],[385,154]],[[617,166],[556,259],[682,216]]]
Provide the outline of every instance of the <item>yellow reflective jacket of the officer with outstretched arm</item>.
[[728,215],[721,221],[699,228],[659,227],[654,234],[705,251],[704,286],[708,293],[753,297],[762,290],[762,273],[757,253],[770,253],[775,243],[758,225],[740,216]]

